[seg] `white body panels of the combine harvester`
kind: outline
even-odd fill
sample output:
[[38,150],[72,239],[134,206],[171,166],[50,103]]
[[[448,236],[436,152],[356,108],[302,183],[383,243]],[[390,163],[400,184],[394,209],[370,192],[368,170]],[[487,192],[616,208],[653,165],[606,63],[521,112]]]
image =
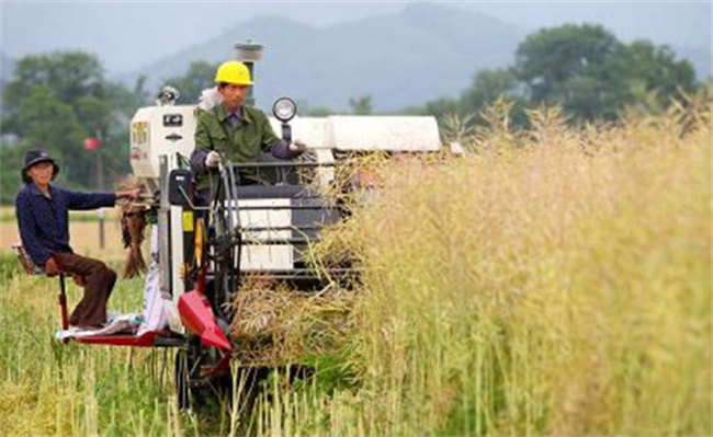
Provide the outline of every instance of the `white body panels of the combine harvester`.
[[[168,173],[186,168],[195,148],[195,105],[157,105],[138,110],[131,125],[131,164],[134,174],[151,188],[167,189]],[[281,122],[270,117],[274,131],[280,135]],[[304,141],[318,163],[333,163],[340,152],[433,152],[441,148],[438,125],[430,116],[328,116],[295,117],[290,122],[292,138]],[[161,174],[161,162],[166,172]],[[320,186],[333,180],[333,168],[316,169]],[[163,180],[163,181],[161,181]],[[170,292],[173,300],[185,291],[180,279],[186,260],[183,260],[183,231],[189,218],[180,206],[170,205],[161,196],[159,210],[161,290]],[[274,206],[284,199],[239,200],[239,222],[247,228],[288,227],[293,222],[288,209],[256,209],[261,205]],[[253,239],[287,238],[290,231],[262,231],[248,235]],[[240,269],[284,271],[292,268],[295,255],[288,244],[250,245],[240,257]]]

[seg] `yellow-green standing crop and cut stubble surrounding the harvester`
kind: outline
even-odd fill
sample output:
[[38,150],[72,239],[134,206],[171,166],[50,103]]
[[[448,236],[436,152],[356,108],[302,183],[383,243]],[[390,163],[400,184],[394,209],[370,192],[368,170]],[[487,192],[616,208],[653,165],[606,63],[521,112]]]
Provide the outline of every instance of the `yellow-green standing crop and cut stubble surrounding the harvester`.
[[[150,352],[55,343],[55,283],[3,258],[0,429],[711,435],[710,108],[578,129],[541,110],[523,133],[495,111],[464,159],[385,168],[343,240],[348,347],[313,380],[274,372],[249,418],[176,412]],[[112,302],[135,311],[140,284]]]

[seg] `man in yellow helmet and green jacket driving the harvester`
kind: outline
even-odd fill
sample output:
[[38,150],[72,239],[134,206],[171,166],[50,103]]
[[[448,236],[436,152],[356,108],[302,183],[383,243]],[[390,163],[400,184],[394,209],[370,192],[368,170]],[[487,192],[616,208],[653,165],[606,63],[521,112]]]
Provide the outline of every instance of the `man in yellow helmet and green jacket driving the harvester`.
[[[191,171],[203,202],[207,200],[207,174],[216,171],[224,158],[231,162],[256,162],[260,152],[271,152],[278,159],[290,160],[306,150],[299,140],[280,139],[265,114],[245,104],[248,87],[252,85],[245,64],[236,60],[223,62],[215,82],[223,102],[199,116],[195,151],[191,154]],[[240,174],[244,185],[259,182],[254,172]]]

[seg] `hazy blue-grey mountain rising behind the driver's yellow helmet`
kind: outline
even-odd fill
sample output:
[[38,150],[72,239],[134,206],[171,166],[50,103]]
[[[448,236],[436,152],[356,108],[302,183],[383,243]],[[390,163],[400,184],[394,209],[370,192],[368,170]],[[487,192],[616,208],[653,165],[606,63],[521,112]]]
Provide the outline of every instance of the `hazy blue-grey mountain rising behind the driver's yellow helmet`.
[[371,95],[376,111],[396,111],[455,96],[475,71],[512,64],[524,36],[480,13],[431,3],[325,30],[264,16],[121,79],[146,74],[158,88],[192,61],[231,59],[234,44],[251,38],[265,46],[256,72],[259,106],[291,95],[310,107],[347,110],[349,97]]

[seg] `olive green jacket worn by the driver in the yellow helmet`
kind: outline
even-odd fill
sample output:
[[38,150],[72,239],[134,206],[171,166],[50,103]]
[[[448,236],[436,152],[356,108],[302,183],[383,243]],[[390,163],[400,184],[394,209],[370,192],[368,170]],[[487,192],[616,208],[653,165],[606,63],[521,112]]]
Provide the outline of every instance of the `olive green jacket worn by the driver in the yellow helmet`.
[[[231,162],[254,162],[260,152],[270,152],[280,142],[264,113],[252,106],[240,108],[240,123],[233,127],[223,105],[216,105],[199,115],[195,127],[195,151],[191,168],[196,175],[199,188],[207,185],[204,161],[211,150],[223,153]],[[254,172],[244,172],[244,177],[254,179]]]

